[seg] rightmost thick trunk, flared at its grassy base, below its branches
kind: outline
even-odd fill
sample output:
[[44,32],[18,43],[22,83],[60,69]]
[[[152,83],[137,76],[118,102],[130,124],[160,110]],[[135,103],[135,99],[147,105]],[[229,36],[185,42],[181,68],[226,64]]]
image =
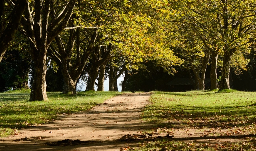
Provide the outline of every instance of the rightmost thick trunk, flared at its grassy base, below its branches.
[[230,54],[229,51],[224,53],[219,91],[224,90],[224,89],[230,89],[230,87],[229,87],[229,73],[230,73],[231,57],[232,57],[232,54]]

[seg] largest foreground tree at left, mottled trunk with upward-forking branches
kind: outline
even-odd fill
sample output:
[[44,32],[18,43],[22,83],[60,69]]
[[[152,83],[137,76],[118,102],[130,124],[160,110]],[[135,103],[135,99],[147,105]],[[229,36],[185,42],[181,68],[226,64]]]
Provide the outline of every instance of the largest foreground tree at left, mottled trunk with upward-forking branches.
[[46,53],[54,38],[66,27],[76,0],[51,1],[35,0],[29,3],[22,18],[20,31],[29,39],[31,57],[35,65],[34,80],[30,99],[47,100],[45,75],[47,70]]

